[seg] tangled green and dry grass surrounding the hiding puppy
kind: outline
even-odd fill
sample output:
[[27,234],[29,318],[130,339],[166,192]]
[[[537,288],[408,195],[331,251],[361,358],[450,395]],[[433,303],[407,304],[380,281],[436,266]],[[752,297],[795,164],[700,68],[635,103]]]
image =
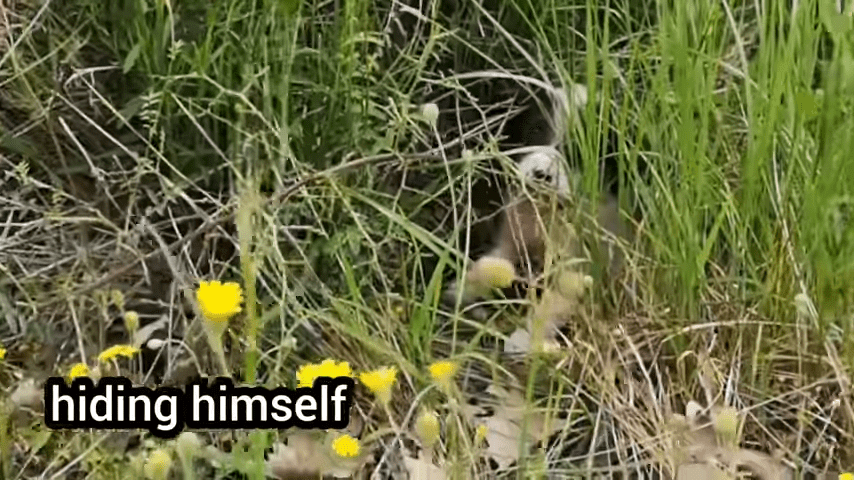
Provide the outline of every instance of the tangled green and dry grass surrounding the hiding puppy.
[[[119,478],[171,445],[125,453],[123,434],[44,433],[13,393],[128,341],[110,326],[122,313],[104,300],[112,290],[125,309],[168,315],[216,372],[181,308],[198,278],[244,287],[226,343],[250,383],[292,386],[299,365],[322,358],[399,369],[388,411],[359,390],[363,447],[380,452],[362,473],[386,450],[384,463],[400,464],[395,433],[414,435],[427,408],[446,428],[436,464],[492,478],[461,405],[511,377],[531,409],[569,415],[519,475],[633,468],[625,456],[602,463],[613,442],[666,460],[667,417],[689,400],[737,407],[742,445],[779,451],[795,478],[854,469],[851,7],[486,3],[437,3],[398,45],[379,0],[2,7],[4,477]],[[497,156],[478,128],[501,114],[487,103],[500,82],[451,78],[473,71],[586,86],[566,132],[581,194],[601,195],[611,154],[621,204],[639,213],[624,275],[612,285],[594,265],[557,359],[490,347],[524,324],[519,308],[484,321],[438,308],[448,272],[467,266],[457,229],[484,164],[463,150]],[[420,114],[428,101],[444,109],[435,130]],[[459,118],[445,116],[454,105]],[[401,170],[432,175],[428,191],[395,191]],[[158,264],[164,249],[172,261]],[[154,295],[165,305],[143,306]],[[426,373],[446,357],[463,366],[451,397]],[[121,373],[142,381],[141,366]],[[211,449],[197,478],[262,478],[263,449],[286,436],[200,433]]]

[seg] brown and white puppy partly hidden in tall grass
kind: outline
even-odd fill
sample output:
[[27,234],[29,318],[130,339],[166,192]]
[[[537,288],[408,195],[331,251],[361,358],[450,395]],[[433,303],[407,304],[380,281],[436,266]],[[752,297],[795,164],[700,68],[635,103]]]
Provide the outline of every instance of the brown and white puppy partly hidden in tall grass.
[[[568,170],[559,147],[568,121],[575,119],[575,109],[584,105],[586,94],[583,89],[576,88],[570,99],[565,90],[554,89],[550,96],[548,128],[551,134],[545,145],[517,150],[515,164],[520,180],[517,183],[521,187],[509,195],[500,212],[500,220],[492,233],[491,249],[472,264],[464,285],[457,281],[450,283],[443,296],[446,304],[453,305],[459,299],[463,306],[468,306],[484,299],[489,287],[508,288],[507,279],[511,276],[528,284],[549,264],[584,257],[584,246],[568,222],[565,208],[572,204],[584,205],[578,194],[579,172]],[[606,231],[606,238],[599,242],[600,252],[607,256],[608,270],[615,275],[623,259],[619,249],[614,248],[613,240],[627,239],[629,229],[620,214],[617,198],[611,192],[603,193],[597,213],[595,222]],[[493,269],[508,272],[497,275],[496,278],[503,280],[496,285],[490,285],[489,277],[495,277]],[[525,275],[520,276],[519,272]]]

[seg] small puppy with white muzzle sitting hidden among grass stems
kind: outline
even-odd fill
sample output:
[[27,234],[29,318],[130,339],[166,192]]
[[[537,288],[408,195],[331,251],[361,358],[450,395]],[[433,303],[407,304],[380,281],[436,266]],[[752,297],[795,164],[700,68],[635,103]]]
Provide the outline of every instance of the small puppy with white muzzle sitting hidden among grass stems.
[[[586,101],[586,96],[577,92],[573,97],[575,105],[579,105],[579,98]],[[584,246],[569,221],[573,217],[569,207],[579,207],[583,201],[576,198],[574,184],[577,181],[571,181],[567,162],[557,148],[569,111],[566,93],[555,90],[551,121],[554,130],[550,143],[524,149],[517,162],[522,187],[502,209],[493,247],[472,264],[464,285],[457,282],[450,285],[444,296],[447,304],[453,305],[459,299],[463,306],[468,306],[489,298],[496,289],[506,292],[514,285],[544,286],[549,282],[544,283],[543,280],[548,279],[538,277],[548,271],[562,272],[557,278],[563,280],[572,277],[574,280],[570,283],[573,285],[585,283],[578,268],[579,262],[586,257]],[[628,229],[623,224],[617,200],[610,193],[606,193],[600,202],[597,217],[596,222],[609,232],[608,236],[626,238]],[[618,251],[610,248],[610,243],[600,242],[600,249],[610,252],[608,270],[614,274],[622,259]],[[567,265],[573,267],[567,269]],[[496,271],[501,274],[496,275]],[[562,292],[559,288],[552,288],[554,285],[545,286],[549,293],[540,299],[542,305],[535,308],[534,317],[549,317],[545,324],[559,326],[563,323],[559,317],[567,317],[566,310],[575,309],[583,288]],[[486,312],[475,309],[472,313],[481,317]],[[548,337],[552,329],[546,330]]]

